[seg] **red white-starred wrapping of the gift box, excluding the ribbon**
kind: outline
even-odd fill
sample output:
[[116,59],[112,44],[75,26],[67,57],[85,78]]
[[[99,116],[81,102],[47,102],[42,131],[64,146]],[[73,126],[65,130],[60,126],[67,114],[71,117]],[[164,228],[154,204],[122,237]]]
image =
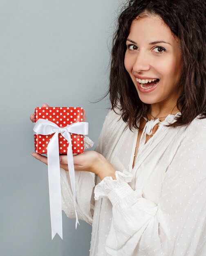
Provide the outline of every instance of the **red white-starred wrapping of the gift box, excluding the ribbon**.
[[[73,123],[78,123],[83,121],[83,108],[36,108],[34,112],[34,123],[38,121],[38,119],[46,119],[57,126],[63,128]],[[35,151],[38,154],[46,154],[47,153],[47,145],[51,140],[51,135],[34,135],[34,145]],[[72,153],[83,153],[84,152],[84,136],[71,133],[72,140]],[[59,139],[59,153],[66,154],[67,147],[69,142],[61,135],[58,134]]]

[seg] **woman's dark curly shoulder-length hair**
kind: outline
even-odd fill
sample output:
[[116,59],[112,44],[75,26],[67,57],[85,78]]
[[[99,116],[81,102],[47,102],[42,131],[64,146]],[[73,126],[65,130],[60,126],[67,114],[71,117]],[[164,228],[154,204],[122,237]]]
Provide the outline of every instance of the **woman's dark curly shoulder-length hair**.
[[[132,21],[142,13],[158,15],[179,38],[183,62],[181,96],[177,108],[181,115],[169,126],[190,124],[195,117],[206,118],[206,1],[205,0],[130,0],[123,7],[114,34],[110,87],[111,109],[121,111],[121,117],[130,130],[138,128],[142,116],[150,112],[150,104],[138,96],[130,75],[124,66],[126,39]],[[118,111],[119,112],[119,111]]]

